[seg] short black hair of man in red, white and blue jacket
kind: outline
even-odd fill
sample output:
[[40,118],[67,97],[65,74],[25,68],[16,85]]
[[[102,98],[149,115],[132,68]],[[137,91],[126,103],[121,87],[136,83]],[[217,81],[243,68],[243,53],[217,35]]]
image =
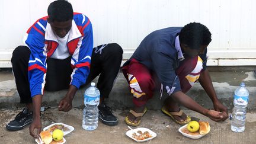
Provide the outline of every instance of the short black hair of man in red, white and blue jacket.
[[52,2],[47,9],[47,13],[51,22],[64,22],[73,19],[72,5],[65,0]]

